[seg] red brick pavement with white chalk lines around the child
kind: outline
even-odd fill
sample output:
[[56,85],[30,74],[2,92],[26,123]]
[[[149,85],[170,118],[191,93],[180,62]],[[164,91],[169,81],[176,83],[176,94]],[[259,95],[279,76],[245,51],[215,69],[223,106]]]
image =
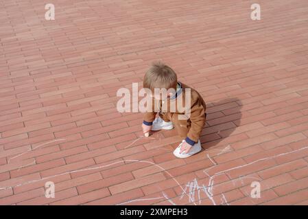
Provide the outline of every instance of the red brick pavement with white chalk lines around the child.
[[[307,205],[308,1],[252,3],[0,0],[0,204]],[[193,157],[116,110],[157,59],[208,105]]]

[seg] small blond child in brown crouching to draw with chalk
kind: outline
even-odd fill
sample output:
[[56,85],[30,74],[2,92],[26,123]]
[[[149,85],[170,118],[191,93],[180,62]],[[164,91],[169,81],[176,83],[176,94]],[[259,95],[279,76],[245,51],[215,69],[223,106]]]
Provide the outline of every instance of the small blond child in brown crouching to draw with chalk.
[[[174,70],[163,62],[154,62],[150,66],[143,79],[143,88],[150,89],[152,94],[155,93],[155,88],[171,90],[167,92],[167,99],[163,99],[161,94],[152,95],[154,97],[152,110],[145,112],[143,116],[142,128],[145,136],[149,135],[150,130],[158,131],[175,127],[178,135],[183,139],[174,150],[176,157],[185,158],[201,151],[199,138],[205,124],[206,104],[200,94],[184,83],[180,83]],[[187,98],[190,98],[190,101],[187,101]],[[186,102],[188,105],[185,105]],[[187,114],[187,107],[190,109],[189,114]],[[158,117],[156,117],[157,113]]]

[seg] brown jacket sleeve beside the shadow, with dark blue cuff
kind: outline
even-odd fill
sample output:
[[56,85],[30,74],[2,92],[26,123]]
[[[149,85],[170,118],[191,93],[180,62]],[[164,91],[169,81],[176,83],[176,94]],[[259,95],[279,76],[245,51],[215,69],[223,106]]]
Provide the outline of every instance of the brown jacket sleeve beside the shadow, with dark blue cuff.
[[198,142],[205,125],[205,110],[200,100],[196,101],[191,106],[191,129],[189,129],[187,138],[185,139],[188,144],[193,145]]

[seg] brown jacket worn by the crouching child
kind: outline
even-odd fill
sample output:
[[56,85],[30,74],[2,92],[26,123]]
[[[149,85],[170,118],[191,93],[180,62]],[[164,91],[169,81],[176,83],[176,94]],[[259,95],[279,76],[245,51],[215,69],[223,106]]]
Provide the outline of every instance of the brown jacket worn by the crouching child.
[[[194,142],[198,142],[200,138],[200,134],[202,132],[202,129],[205,125],[205,112],[206,112],[206,104],[204,100],[202,99],[202,96],[193,88],[191,89],[191,101],[190,104],[187,105],[187,107],[190,108],[190,117],[186,113],[188,112],[187,108],[185,108],[185,97],[188,98],[189,92],[186,90],[189,88],[189,86],[186,86],[185,84],[181,83],[182,85],[182,92],[178,94],[176,99],[167,99],[164,103],[162,101],[156,101],[154,98],[152,99],[152,110],[149,110],[150,112],[145,112],[143,115],[143,120],[147,123],[152,123],[156,117],[157,112],[160,112],[161,114],[167,113],[169,120],[172,121],[172,123],[180,123],[180,125],[187,125],[189,127],[189,131],[187,133],[187,137]],[[182,101],[182,103],[180,103]],[[189,101],[187,102],[189,103]],[[185,120],[182,119],[174,119],[178,116],[175,115],[182,115],[186,116]]]

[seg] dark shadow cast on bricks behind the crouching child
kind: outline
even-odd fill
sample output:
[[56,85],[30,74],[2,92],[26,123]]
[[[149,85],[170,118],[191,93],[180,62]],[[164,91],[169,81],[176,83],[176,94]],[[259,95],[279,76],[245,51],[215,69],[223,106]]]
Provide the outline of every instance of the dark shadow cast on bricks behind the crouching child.
[[206,103],[206,125],[200,137],[203,149],[211,150],[217,145],[228,146],[226,138],[239,127],[241,107],[241,100],[237,98]]

